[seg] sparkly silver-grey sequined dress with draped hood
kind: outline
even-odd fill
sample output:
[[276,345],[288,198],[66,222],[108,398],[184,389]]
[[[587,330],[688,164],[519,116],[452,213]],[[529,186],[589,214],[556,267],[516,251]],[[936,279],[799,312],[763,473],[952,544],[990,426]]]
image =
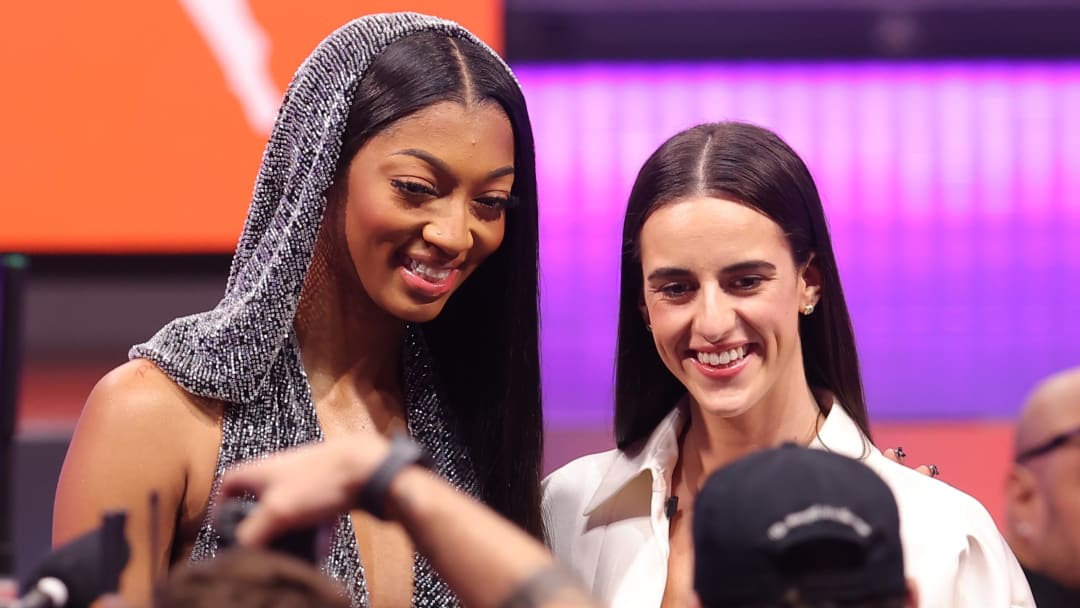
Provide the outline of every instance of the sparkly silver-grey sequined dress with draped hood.
[[[459,25],[414,13],[355,19],[312,52],[285,93],[264,152],[225,297],[213,310],[171,322],[130,352],[156,363],[188,392],[227,404],[211,513],[221,474],[230,465],[322,438],[293,317],[357,83],[387,45],[427,30],[467,39],[491,52]],[[434,457],[438,473],[478,496],[468,450],[435,390],[420,329],[407,326],[404,341],[402,382],[409,432]],[[207,516],[191,559],[213,557],[217,544]],[[368,604],[347,515],[340,519],[325,569],[346,584],[353,606]],[[420,555],[415,557],[414,580],[414,606],[458,605]]]

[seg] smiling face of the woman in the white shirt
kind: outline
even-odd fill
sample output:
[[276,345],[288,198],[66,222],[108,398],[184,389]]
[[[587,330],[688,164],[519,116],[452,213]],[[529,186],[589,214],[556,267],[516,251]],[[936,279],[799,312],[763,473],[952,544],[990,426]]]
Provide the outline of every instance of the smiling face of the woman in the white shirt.
[[640,252],[657,351],[704,413],[805,398],[799,312],[820,284],[774,221],[738,202],[685,199],[649,216]]

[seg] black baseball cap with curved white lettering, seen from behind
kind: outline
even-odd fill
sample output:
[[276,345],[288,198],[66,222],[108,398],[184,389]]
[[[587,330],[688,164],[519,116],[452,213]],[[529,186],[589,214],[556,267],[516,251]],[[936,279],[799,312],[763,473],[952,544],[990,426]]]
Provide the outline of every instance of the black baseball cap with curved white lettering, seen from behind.
[[786,444],[713,473],[693,508],[703,606],[903,596],[900,515],[862,462]]

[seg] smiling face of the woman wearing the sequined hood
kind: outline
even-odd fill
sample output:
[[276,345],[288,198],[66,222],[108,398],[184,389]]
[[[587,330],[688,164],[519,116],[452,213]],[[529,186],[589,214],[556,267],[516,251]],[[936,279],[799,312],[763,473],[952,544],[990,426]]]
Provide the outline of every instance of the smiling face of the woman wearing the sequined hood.
[[502,243],[513,184],[513,130],[495,104],[438,103],[373,137],[343,194],[364,292],[397,319],[434,319]]

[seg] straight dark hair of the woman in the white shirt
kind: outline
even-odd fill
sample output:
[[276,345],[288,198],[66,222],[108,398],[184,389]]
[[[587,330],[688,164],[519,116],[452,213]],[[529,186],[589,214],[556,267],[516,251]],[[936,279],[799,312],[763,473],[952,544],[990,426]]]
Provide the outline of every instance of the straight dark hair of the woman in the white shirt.
[[622,449],[647,437],[686,393],[667,370],[642,319],[640,234],[659,207],[688,197],[732,199],[780,225],[796,266],[813,257],[822,295],[799,317],[802,365],[811,387],[828,389],[869,436],[855,337],[843,300],[821,197],[806,164],[774,133],[739,122],[702,124],[649,157],[630,193],[622,227],[616,347],[615,436]]

